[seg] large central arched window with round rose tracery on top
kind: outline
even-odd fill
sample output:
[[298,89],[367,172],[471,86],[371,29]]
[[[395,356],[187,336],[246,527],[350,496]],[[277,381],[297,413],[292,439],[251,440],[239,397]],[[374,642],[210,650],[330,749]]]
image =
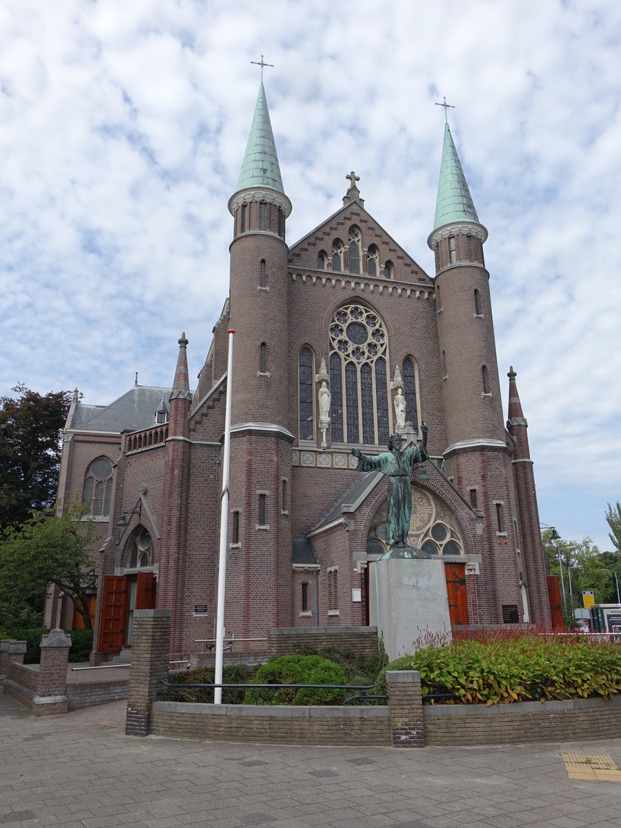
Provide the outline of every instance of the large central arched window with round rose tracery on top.
[[330,322],[330,426],[333,443],[387,445],[388,337],[383,321],[348,302]]

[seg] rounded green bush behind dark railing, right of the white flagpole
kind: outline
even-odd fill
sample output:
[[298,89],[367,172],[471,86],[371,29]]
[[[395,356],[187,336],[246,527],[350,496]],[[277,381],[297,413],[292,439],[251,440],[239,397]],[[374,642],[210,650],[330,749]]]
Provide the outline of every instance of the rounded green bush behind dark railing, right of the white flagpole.
[[[320,656],[281,656],[263,664],[250,684],[344,684],[345,676],[338,664]],[[244,703],[248,705],[339,705],[346,691],[330,687],[283,687],[272,691],[248,690]]]

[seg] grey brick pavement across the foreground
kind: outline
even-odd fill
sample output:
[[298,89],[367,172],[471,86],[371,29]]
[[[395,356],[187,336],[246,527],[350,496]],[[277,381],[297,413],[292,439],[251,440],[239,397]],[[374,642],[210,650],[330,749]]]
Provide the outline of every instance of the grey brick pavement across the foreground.
[[619,826],[621,784],[569,779],[561,753],[305,748],[123,734],[125,703],[35,719],[0,694],[0,826],[457,828]]

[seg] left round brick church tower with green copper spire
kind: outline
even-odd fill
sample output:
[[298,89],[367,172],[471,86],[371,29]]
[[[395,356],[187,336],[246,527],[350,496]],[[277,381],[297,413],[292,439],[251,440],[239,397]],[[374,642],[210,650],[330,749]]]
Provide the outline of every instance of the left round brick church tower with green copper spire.
[[[285,195],[261,83],[238,186],[229,200],[230,326],[235,330],[225,624],[253,637],[291,623],[291,443],[287,406]],[[243,599],[242,599],[243,596]]]

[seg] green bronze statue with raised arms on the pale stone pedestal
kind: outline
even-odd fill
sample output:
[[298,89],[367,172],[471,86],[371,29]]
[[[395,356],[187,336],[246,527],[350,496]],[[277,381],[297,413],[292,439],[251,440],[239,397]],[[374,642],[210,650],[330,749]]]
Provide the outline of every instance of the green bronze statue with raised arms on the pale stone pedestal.
[[401,450],[400,434],[388,438],[388,451],[375,457],[363,455],[359,449],[351,453],[358,458],[359,471],[381,471],[388,477],[388,505],[386,510],[386,542],[390,547],[383,558],[429,557],[420,549],[407,545],[407,532],[412,515],[412,483],[410,473],[416,463],[429,460],[427,454],[427,424],[421,424],[422,440],[412,449]]

